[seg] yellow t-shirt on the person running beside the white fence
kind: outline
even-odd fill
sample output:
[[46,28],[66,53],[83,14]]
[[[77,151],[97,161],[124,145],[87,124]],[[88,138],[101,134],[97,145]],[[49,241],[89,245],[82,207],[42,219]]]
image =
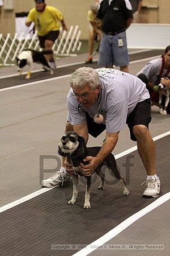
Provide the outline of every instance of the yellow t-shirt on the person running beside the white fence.
[[62,20],[63,15],[52,6],[45,6],[45,10],[37,11],[35,8],[29,11],[26,22],[34,22],[38,35],[44,36],[50,31],[59,30],[58,20]]

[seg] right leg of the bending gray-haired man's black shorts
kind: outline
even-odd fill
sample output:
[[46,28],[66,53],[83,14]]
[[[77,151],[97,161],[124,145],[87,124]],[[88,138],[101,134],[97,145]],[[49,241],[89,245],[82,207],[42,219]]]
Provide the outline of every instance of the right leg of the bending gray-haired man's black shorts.
[[134,110],[130,113],[129,117],[126,119],[126,123],[130,130],[130,139],[132,141],[137,141],[133,133],[133,126],[135,125],[145,125],[148,129],[148,125],[151,122],[151,101],[147,98],[144,101],[139,102]]

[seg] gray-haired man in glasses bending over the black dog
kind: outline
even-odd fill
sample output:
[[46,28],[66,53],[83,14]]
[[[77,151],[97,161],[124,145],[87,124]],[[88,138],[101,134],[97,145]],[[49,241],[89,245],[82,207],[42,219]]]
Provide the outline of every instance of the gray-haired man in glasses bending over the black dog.
[[[75,131],[87,143],[88,134],[96,138],[106,129],[106,138],[99,153],[95,157],[87,156],[84,159],[89,161],[87,165],[80,164],[83,175],[90,176],[113,151],[119,132],[127,123],[130,138],[137,141],[139,156],[147,173],[143,196],[159,196],[155,144],[148,130],[151,115],[146,85],[138,77],[116,69],[104,68],[97,72],[83,67],[71,75],[70,86],[66,131]],[[59,183],[68,181],[67,173],[73,174],[73,169],[65,160],[63,167],[49,179],[42,180],[41,184],[44,187],[57,187]]]

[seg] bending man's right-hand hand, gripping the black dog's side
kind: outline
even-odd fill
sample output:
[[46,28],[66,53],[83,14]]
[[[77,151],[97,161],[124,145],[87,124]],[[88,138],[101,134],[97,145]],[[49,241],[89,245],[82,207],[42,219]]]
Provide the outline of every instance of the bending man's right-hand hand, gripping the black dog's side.
[[99,165],[97,164],[96,158],[94,158],[93,156],[87,156],[86,158],[83,159],[83,161],[88,161],[89,163],[86,164],[85,166],[83,163],[80,163],[80,171],[82,171],[82,174],[84,176],[91,176],[96,170],[97,166]]

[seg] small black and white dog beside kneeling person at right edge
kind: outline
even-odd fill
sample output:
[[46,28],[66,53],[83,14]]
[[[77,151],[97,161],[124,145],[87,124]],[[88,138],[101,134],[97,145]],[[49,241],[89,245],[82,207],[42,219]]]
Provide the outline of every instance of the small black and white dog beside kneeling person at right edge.
[[[161,82],[158,85],[159,87],[159,113],[162,115],[167,115],[167,106],[169,104],[169,95],[170,95],[170,89],[163,85]],[[162,95],[165,95],[165,105],[164,105],[164,109],[163,109],[163,105],[162,105]]]

